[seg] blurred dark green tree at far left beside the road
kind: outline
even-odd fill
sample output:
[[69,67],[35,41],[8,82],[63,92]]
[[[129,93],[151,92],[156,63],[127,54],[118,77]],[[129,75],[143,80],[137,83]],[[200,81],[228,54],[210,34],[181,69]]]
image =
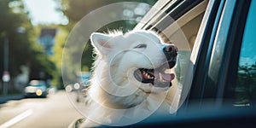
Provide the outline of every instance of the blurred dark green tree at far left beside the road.
[[[9,40],[9,73],[14,79],[20,66],[30,68],[30,79],[47,79],[55,72],[55,64],[38,45],[38,35],[21,0],[0,1],[0,75],[3,74],[4,40]],[[42,78],[40,73],[45,73]]]

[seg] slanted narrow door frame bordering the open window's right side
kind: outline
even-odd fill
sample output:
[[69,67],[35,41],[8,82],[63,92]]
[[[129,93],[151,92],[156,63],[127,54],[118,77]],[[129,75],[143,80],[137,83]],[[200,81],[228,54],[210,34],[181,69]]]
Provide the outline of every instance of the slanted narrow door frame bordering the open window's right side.
[[[216,20],[218,14],[218,6],[219,1],[210,0],[207,5],[207,10],[205,15],[201,21],[201,26],[197,37],[195,39],[195,45],[192,49],[192,53],[190,56],[188,73],[185,76],[183,90],[180,97],[180,104],[183,109],[188,108],[189,101],[193,99],[199,99],[201,96],[202,86],[198,82],[202,81],[195,81],[196,76],[201,76],[205,69],[201,68],[204,67],[207,57],[207,50],[209,47],[209,40],[212,35],[213,25]],[[194,85],[192,85],[194,83]]]

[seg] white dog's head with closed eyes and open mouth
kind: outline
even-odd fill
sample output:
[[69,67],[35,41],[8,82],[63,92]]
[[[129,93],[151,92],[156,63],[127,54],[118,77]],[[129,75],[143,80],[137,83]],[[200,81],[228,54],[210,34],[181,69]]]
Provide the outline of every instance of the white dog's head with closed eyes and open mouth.
[[107,63],[111,79],[122,85],[127,81],[144,92],[165,91],[172,85],[174,73],[168,69],[176,64],[177,47],[162,44],[162,40],[148,31],[119,34],[93,33],[93,46]]

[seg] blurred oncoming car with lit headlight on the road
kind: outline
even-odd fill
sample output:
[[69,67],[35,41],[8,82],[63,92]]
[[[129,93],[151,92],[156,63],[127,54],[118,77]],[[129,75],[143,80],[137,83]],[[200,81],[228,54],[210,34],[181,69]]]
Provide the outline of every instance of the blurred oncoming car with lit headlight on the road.
[[25,97],[46,97],[47,84],[43,80],[31,80],[25,88]]

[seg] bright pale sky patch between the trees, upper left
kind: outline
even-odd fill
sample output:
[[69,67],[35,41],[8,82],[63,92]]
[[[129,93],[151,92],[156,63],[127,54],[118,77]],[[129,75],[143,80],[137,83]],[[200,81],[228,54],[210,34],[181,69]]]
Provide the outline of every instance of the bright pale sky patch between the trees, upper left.
[[62,24],[67,25],[68,20],[61,11],[57,10],[55,0],[22,0],[29,11],[33,25]]

